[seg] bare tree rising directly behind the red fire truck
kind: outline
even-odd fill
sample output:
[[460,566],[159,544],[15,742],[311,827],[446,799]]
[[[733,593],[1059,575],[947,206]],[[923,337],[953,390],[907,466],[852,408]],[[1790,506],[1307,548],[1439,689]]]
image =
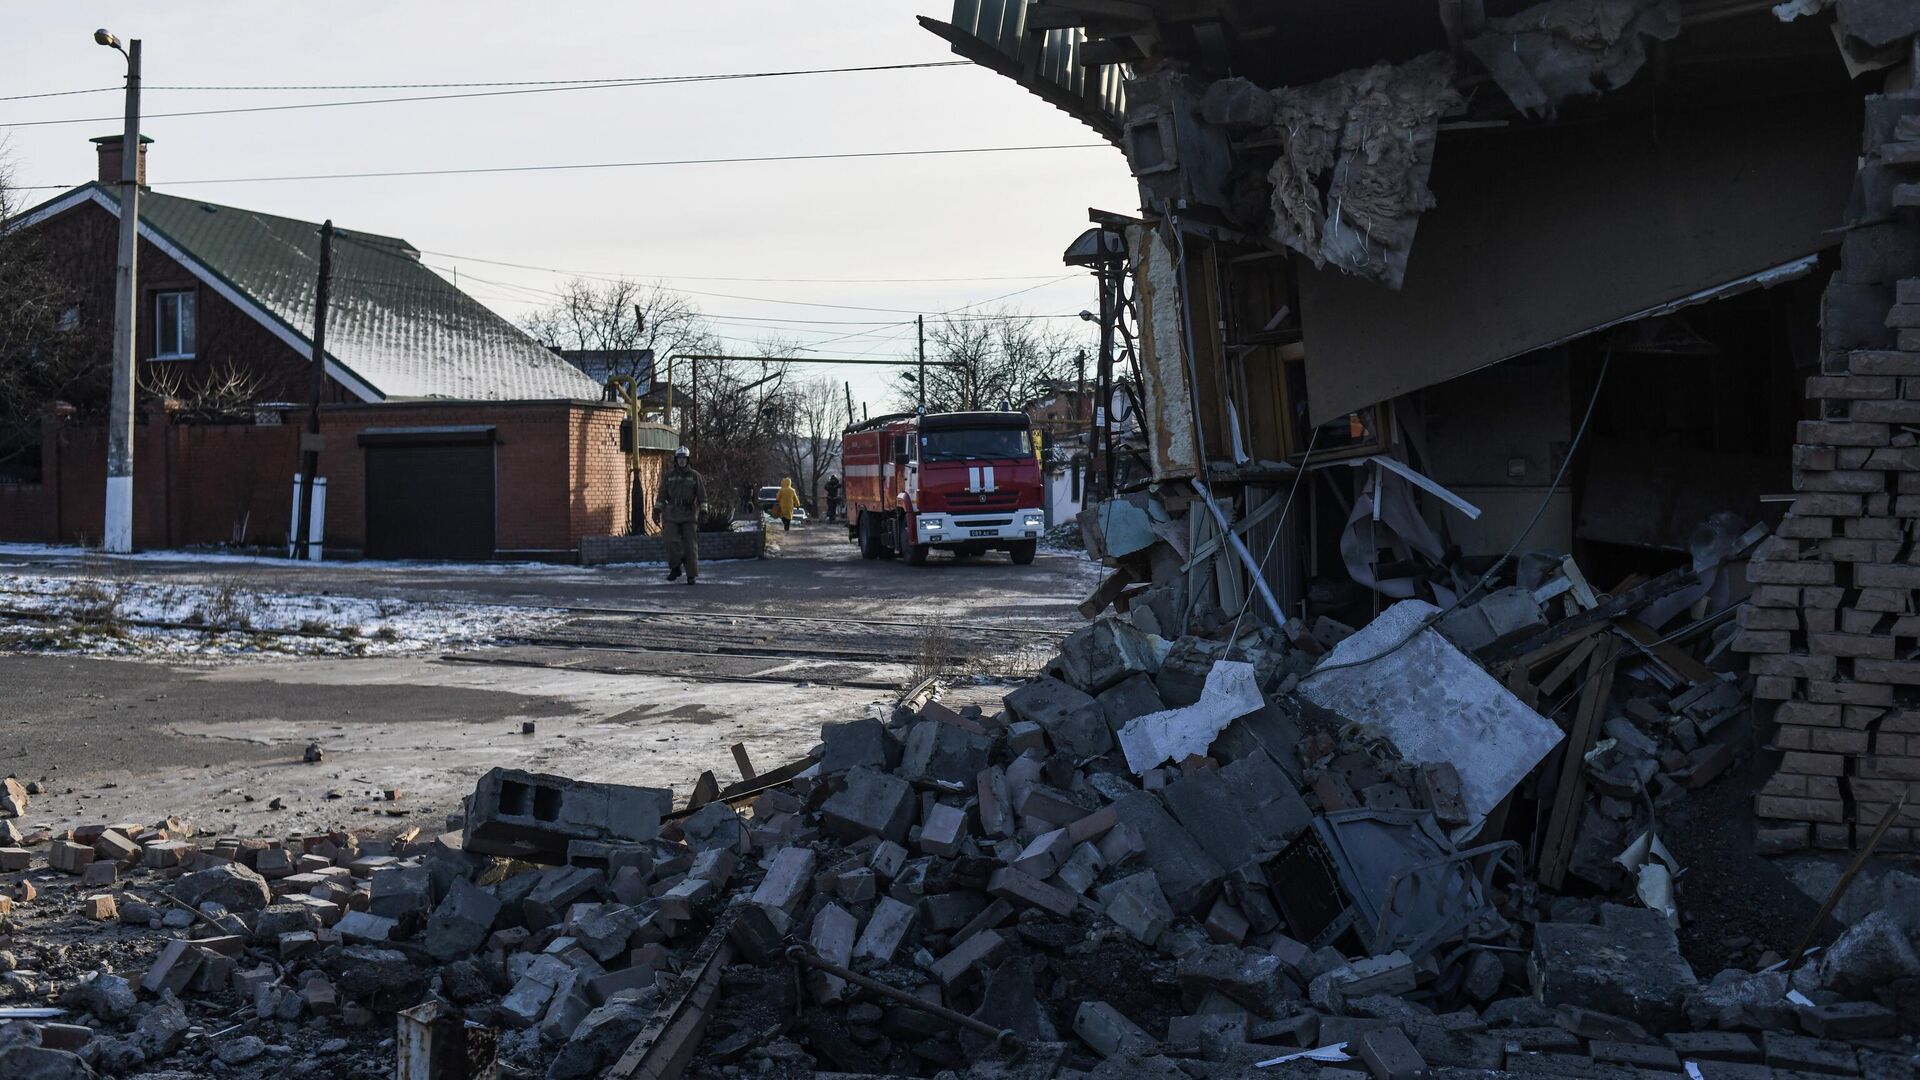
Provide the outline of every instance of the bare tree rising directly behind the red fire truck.
[[[927,323],[927,359],[941,361],[927,367],[927,411],[1018,409],[1071,379],[1085,350],[1073,329],[1014,309]],[[902,409],[914,409],[918,373],[897,375],[893,394]]]

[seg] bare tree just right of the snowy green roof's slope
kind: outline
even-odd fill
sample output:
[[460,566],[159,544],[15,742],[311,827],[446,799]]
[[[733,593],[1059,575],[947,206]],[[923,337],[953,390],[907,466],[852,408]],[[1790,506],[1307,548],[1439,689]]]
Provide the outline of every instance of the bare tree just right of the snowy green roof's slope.
[[[718,352],[712,327],[693,300],[660,282],[576,277],[561,286],[561,300],[530,315],[524,329],[549,348],[605,352],[651,348],[659,363],[657,379],[666,379],[668,356]],[[614,363],[607,375],[643,375],[637,367],[632,361]]]

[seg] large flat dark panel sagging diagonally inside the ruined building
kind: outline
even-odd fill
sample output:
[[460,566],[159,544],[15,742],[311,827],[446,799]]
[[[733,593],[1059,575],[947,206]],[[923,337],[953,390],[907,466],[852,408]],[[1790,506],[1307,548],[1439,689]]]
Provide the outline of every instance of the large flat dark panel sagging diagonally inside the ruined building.
[[1849,92],[1448,135],[1400,292],[1302,267],[1313,423],[1836,246],[1859,115]]

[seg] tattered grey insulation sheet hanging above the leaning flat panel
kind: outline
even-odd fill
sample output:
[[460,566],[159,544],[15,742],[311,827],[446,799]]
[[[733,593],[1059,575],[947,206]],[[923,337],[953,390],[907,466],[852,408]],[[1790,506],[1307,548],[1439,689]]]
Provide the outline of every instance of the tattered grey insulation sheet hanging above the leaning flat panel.
[[[1442,115],[1461,108],[1453,60],[1421,56],[1273,92],[1283,150],[1273,238],[1313,261],[1400,288]],[[1325,194],[1321,194],[1325,192]]]

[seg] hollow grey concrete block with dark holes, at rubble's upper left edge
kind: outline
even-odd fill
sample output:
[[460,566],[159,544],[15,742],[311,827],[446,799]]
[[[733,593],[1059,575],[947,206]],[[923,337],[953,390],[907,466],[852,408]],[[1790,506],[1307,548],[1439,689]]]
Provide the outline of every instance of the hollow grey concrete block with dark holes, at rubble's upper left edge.
[[493,769],[467,801],[461,844],[476,855],[559,865],[572,840],[637,844],[659,832],[660,803],[653,790]]

